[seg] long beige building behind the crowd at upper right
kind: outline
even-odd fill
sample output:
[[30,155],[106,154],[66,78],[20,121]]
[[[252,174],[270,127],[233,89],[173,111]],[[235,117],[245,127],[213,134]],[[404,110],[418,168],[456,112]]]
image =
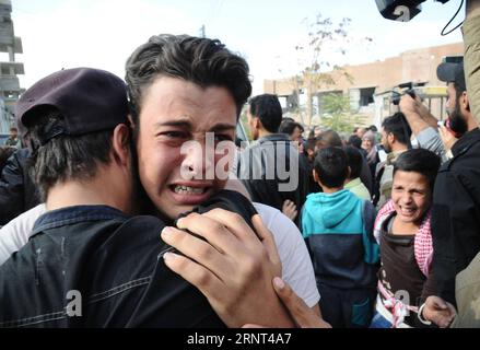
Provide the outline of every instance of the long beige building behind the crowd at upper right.
[[[321,120],[323,96],[342,93],[350,96],[352,110],[364,116],[365,125],[378,126],[383,118],[395,112],[393,91],[402,91],[396,88],[402,83],[418,85],[418,94],[425,98],[432,114],[442,119],[445,117],[446,89],[445,83],[436,78],[436,68],[445,56],[463,55],[464,44],[456,43],[409,50],[382,61],[344,66],[343,72],[330,72],[335,85],[320,84],[319,89],[312,92],[314,121]],[[351,81],[346,78],[346,73],[352,78]],[[294,78],[265,80],[264,92],[283,97],[285,112],[292,112],[306,101],[305,88],[298,85]]]

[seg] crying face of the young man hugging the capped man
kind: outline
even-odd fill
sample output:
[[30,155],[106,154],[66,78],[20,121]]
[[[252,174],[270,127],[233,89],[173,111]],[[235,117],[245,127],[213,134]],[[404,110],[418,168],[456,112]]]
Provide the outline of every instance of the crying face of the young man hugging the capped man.
[[[234,149],[235,126],[236,105],[226,89],[168,77],[152,83],[142,100],[137,150],[140,180],[161,214],[175,219],[224,187],[216,165],[233,152],[216,154],[215,147],[229,141]],[[213,143],[207,132],[214,132]]]

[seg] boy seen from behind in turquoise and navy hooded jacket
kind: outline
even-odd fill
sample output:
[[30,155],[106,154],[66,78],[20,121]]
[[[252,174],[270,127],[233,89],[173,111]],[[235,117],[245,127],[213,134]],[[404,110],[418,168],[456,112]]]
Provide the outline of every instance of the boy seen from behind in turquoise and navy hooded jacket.
[[366,327],[376,294],[375,210],[370,201],[343,189],[349,172],[342,149],[321,149],[315,158],[314,178],[323,192],[309,195],[302,213],[320,310],[333,328]]

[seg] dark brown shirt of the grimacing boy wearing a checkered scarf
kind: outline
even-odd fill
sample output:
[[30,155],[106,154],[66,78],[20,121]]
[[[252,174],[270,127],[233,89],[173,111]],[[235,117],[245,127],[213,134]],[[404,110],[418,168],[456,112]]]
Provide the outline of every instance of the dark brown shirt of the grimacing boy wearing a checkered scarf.
[[[395,213],[382,225],[381,257],[382,267],[378,279],[385,289],[397,295],[408,298],[403,303],[420,306],[429,295],[435,294],[435,282],[432,271],[426,278],[420,270],[414,254],[414,235],[398,235],[391,233]],[[381,293],[382,296],[382,293]],[[382,296],[382,299],[384,299]],[[417,314],[410,314],[405,322],[417,326]]]

